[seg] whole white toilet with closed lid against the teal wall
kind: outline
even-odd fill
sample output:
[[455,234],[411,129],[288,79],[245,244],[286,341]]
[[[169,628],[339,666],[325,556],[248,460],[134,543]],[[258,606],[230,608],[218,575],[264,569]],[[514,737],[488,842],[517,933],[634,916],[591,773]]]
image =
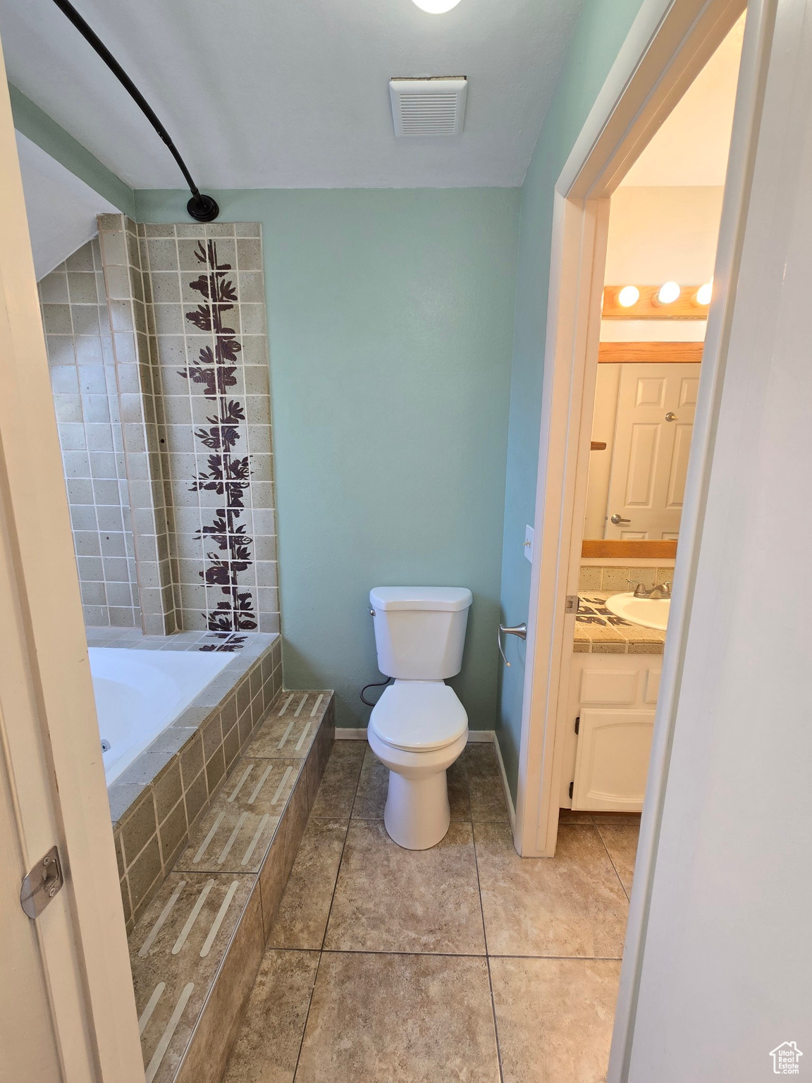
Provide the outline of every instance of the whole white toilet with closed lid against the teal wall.
[[372,708],[369,747],[389,768],[383,822],[407,850],[427,850],[450,823],[446,770],[466,747],[468,715],[444,681],[462,666],[471,591],[376,587],[369,592],[378,668],[395,682]]

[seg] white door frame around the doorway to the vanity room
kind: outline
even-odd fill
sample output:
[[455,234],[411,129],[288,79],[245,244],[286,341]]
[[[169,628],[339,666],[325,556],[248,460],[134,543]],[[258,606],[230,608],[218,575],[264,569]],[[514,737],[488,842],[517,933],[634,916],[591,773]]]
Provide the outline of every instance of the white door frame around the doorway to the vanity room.
[[[680,529],[678,591],[671,604],[657,733],[646,804],[665,783],[670,702],[678,683],[696,550],[696,516],[710,465],[717,382],[723,368],[739,224],[746,210],[763,93],[764,24],[774,0],[750,0],[717,252],[715,298],[703,356],[685,509]],[[555,185],[545,347],[536,546],[531,574],[514,843],[523,857],[552,857],[559,820],[563,741],[589,443],[598,369],[610,196],[745,8],[745,0],[644,0]]]

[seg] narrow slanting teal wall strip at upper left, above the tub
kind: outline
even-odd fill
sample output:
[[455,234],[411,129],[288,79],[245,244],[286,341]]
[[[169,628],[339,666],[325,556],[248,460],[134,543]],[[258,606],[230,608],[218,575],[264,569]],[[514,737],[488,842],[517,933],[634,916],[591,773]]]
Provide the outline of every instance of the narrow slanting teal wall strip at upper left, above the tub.
[[135,213],[135,194],[120,177],[116,177],[103,166],[90,151],[11,83],[9,83],[9,96],[14,127],[18,132],[36,143],[45,154],[50,154],[65,169],[69,169],[75,177],[89,184],[100,196],[109,199],[125,214],[132,217]]

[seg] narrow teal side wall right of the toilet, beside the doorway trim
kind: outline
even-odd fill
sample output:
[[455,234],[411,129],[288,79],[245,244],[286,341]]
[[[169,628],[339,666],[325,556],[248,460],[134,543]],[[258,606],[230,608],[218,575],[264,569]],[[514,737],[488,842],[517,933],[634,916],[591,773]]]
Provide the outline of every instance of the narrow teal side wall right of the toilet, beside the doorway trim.
[[[531,564],[522,543],[536,508],[555,181],[641,2],[585,0],[522,186],[502,545],[501,611],[510,624],[527,618],[529,602]],[[515,799],[525,645],[514,636],[506,639],[511,667],[501,670],[497,734]]]

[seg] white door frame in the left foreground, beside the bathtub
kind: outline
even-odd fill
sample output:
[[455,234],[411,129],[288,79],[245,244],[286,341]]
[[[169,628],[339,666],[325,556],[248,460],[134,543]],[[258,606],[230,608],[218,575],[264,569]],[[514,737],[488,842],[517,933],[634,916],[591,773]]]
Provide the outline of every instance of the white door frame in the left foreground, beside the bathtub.
[[[17,835],[0,851],[0,876],[16,879],[21,865],[30,869],[53,845],[60,848],[65,886],[31,929],[62,1083],[143,1083],[67,495],[1,53],[0,387],[0,771]],[[0,981],[13,988],[15,977],[0,974]],[[36,1035],[36,1025],[23,1010],[2,1020],[3,1056],[10,1053],[11,1064],[26,1064],[25,1043]]]

